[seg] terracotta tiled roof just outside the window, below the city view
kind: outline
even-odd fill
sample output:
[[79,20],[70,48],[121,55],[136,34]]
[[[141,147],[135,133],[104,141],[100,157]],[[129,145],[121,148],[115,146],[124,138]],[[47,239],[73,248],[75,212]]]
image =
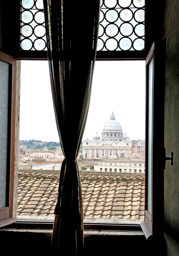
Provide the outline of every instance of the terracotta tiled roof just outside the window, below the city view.
[[[80,172],[84,218],[144,219],[144,175]],[[53,216],[59,174],[20,172],[17,215]]]

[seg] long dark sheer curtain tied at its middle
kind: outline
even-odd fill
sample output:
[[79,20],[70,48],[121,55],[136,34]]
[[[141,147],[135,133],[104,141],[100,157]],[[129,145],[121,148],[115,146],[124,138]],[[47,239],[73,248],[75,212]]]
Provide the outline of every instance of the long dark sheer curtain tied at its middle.
[[83,205],[76,157],[87,120],[98,38],[100,0],[43,0],[61,166],[52,247],[83,255]]

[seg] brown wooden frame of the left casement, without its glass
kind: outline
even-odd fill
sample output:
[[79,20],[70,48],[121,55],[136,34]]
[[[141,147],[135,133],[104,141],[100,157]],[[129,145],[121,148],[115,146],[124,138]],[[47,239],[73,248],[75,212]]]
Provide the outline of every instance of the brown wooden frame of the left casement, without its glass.
[[0,227],[15,222],[13,217],[14,201],[14,152],[15,152],[15,105],[16,105],[16,59],[0,52],[0,61],[9,64],[9,96],[8,96],[8,140],[7,140],[7,176],[6,204],[0,208]]

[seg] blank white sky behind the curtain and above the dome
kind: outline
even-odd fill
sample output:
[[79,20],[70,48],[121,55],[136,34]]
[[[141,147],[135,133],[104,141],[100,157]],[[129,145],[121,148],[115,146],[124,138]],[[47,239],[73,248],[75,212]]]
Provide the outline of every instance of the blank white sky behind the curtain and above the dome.
[[[59,141],[48,61],[21,61],[20,140]],[[111,113],[130,139],[145,138],[145,61],[96,61],[84,139]]]

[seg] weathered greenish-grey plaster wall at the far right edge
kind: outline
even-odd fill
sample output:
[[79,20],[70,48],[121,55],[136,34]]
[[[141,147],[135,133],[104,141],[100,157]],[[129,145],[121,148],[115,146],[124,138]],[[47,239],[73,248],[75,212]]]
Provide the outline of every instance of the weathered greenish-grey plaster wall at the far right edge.
[[179,1],[165,1],[164,37],[166,46],[165,148],[174,165],[166,163],[165,241],[167,256],[179,255]]

